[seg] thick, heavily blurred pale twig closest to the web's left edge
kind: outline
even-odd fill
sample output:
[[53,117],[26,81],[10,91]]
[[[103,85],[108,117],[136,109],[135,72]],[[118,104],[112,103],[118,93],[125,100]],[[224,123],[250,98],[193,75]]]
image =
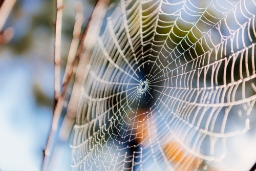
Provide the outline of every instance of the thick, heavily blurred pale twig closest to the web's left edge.
[[[91,51],[95,45],[96,39],[99,35],[103,18],[105,16],[106,9],[108,8],[109,0],[99,0],[95,10],[93,11],[90,19],[89,27],[84,33],[81,44],[78,48],[77,53],[81,53],[80,58],[76,58],[74,67],[77,68],[75,75],[75,82],[71,93],[71,98],[68,105],[67,114],[62,122],[59,138],[62,141],[67,141],[69,133],[72,129],[73,123],[75,122],[78,101],[81,95],[81,83],[84,75],[87,75],[88,65],[91,58]],[[78,65],[79,62],[79,65]],[[78,67],[76,67],[78,65]]]

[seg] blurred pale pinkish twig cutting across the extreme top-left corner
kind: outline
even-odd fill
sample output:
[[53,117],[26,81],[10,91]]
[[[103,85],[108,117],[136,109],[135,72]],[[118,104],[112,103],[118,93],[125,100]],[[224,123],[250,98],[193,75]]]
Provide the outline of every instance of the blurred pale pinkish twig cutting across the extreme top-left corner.
[[16,0],[2,0],[0,1],[0,31],[2,31],[6,19],[9,16]]

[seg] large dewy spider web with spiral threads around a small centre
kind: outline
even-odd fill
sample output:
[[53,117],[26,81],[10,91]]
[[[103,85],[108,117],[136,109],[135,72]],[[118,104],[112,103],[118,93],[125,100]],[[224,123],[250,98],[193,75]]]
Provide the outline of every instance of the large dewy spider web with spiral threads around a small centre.
[[111,13],[83,79],[73,170],[221,161],[250,129],[256,3],[121,0]]

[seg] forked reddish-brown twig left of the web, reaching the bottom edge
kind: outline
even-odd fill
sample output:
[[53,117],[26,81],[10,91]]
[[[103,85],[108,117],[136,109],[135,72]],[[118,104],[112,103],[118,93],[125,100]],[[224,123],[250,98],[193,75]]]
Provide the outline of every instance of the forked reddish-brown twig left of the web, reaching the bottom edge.
[[[44,151],[44,161],[42,163],[42,170],[47,170],[49,162],[50,162],[50,157],[51,153],[54,149],[54,137],[57,131],[58,123],[59,123],[59,117],[62,111],[62,106],[63,106],[63,101],[65,99],[66,91],[68,89],[71,76],[74,72],[74,69],[77,67],[81,53],[84,50],[84,45],[83,42],[86,39],[86,35],[88,32],[88,28],[92,23],[98,23],[98,15],[102,13],[102,8],[99,8],[102,6],[102,1],[97,1],[96,2],[96,7],[91,15],[89,22],[86,26],[86,30],[84,31],[84,34],[82,36],[82,39],[80,41],[79,45],[79,40],[80,40],[80,34],[81,34],[81,26],[83,22],[83,16],[82,16],[82,4],[77,3],[75,8],[76,8],[76,22],[74,26],[74,33],[73,33],[73,39],[71,42],[71,47],[69,51],[69,56],[68,56],[68,63],[67,67],[65,70],[65,75],[63,77],[63,82],[61,84],[62,89],[60,89],[60,41],[61,41],[61,23],[62,23],[62,1],[57,0],[57,14],[56,14],[56,34],[55,34],[55,108],[54,108],[54,115],[53,115],[53,121],[52,121],[52,127],[51,127],[51,132],[48,138],[48,142],[46,145],[46,149]],[[60,11],[60,12],[59,12]],[[96,14],[95,14],[96,13]],[[93,17],[94,16],[94,17]],[[104,15],[103,15],[104,16]],[[102,17],[100,15],[100,17]],[[95,26],[95,25],[93,25]],[[100,27],[99,27],[100,28]],[[99,30],[96,29],[97,31]],[[95,28],[91,28],[91,30],[95,30]],[[92,32],[92,31],[91,31]],[[79,45],[79,47],[78,47]],[[77,49],[78,47],[78,49]],[[73,119],[73,117],[72,117]]]

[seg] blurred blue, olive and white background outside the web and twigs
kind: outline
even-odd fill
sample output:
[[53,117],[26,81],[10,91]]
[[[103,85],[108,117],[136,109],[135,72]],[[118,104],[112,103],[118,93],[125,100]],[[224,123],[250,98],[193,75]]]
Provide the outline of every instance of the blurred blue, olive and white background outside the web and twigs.
[[[72,40],[76,2],[63,1],[61,76]],[[84,29],[95,1],[83,0],[82,4]],[[14,29],[12,40],[0,47],[0,169],[3,171],[41,169],[42,151],[53,116],[55,8],[55,1],[50,0],[17,1],[3,29]],[[66,104],[68,101],[64,102],[59,125]],[[216,164],[216,170],[251,168],[256,161],[255,125],[251,125],[247,134],[230,138],[228,156],[221,163],[212,163]],[[70,141],[56,138],[55,144],[49,170],[71,170]]]

